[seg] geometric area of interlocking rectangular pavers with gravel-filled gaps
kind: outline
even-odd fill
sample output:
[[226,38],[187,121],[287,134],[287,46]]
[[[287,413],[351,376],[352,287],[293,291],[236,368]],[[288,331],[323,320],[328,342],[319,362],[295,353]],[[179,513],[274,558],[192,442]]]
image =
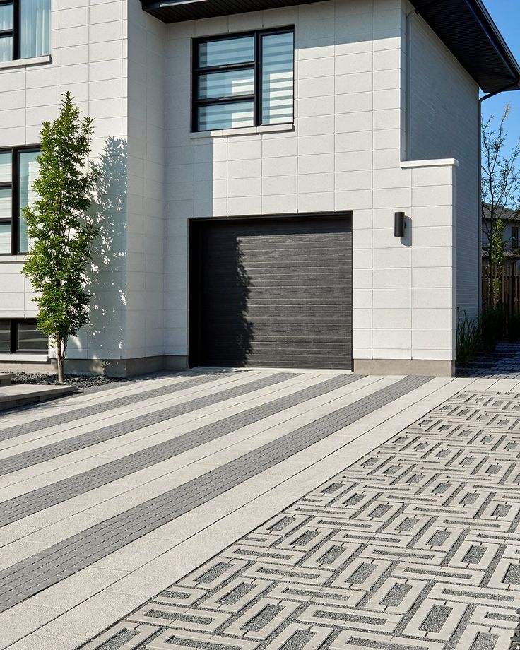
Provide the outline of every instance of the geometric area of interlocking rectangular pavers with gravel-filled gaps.
[[520,394],[462,391],[85,650],[504,650]]

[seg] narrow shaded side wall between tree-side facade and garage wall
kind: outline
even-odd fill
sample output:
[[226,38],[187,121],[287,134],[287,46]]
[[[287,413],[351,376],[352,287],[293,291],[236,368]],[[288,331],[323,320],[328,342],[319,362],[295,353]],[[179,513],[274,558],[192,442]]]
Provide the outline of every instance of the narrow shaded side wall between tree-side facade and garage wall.
[[166,25],[129,0],[125,358],[164,350]]

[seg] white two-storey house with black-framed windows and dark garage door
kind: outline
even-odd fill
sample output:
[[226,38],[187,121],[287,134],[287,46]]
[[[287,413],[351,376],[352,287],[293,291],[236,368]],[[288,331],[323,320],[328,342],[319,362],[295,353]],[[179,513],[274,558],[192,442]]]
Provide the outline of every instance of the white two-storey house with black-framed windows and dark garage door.
[[48,367],[20,206],[71,90],[103,235],[69,370],[451,375],[479,88],[519,79],[481,0],[1,0],[1,364]]

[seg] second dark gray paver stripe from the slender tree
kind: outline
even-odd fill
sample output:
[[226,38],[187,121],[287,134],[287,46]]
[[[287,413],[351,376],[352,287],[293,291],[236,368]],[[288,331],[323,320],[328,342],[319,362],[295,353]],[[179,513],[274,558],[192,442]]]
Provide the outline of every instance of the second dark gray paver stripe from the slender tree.
[[70,454],[71,451],[85,449],[86,447],[91,447],[93,444],[99,444],[100,442],[105,442],[105,440],[117,438],[127,433],[131,433],[132,431],[156,425],[165,420],[170,420],[170,418],[176,418],[179,415],[190,413],[193,410],[212,406],[213,404],[233,397],[240,397],[241,395],[265,388],[266,386],[285,382],[287,379],[292,379],[293,377],[297,377],[297,375],[290,372],[270,374],[267,377],[255,379],[254,382],[248,382],[247,384],[240,386],[233,386],[232,388],[224,389],[208,396],[197,397],[196,399],[191,399],[182,404],[162,408],[154,413],[137,415],[135,418],[126,420],[126,422],[108,425],[107,427],[103,427],[97,431],[88,431],[72,438],[47,444],[45,447],[37,447],[37,449],[23,451],[21,454],[13,454],[13,456],[1,459],[0,475],[11,474],[12,472],[24,469],[25,467],[44,463],[45,461],[57,458],[58,456]]

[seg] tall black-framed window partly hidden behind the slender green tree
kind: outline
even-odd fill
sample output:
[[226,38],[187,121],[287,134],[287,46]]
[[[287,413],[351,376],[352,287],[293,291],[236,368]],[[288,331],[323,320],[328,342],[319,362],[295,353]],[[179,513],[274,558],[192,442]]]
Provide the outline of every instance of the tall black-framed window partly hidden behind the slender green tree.
[[38,175],[37,148],[0,149],[0,255],[28,251],[23,208],[35,201],[32,183]]

